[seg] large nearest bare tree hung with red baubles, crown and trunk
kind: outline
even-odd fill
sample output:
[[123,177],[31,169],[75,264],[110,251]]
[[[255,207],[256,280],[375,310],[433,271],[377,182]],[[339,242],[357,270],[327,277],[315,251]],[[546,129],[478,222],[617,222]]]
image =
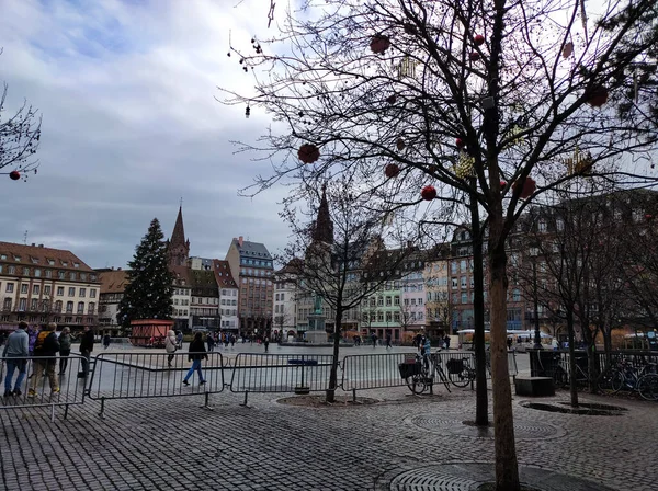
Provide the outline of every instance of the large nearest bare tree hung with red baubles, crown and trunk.
[[[587,171],[611,181],[653,180],[634,160],[657,141],[651,100],[632,101],[621,118],[614,109],[628,102],[633,64],[658,44],[646,28],[658,8],[655,0],[593,8],[328,0],[298,19],[291,12],[272,44],[254,38],[251,55],[235,49],[257,88],[227,102],[264,106],[274,119],[261,146],[242,147],[275,162],[252,192],[349,173],[370,206],[396,206],[411,220],[424,219],[446,187],[481,206],[498,490],[520,489],[507,365],[510,231],[541,193],[586,171],[565,168],[575,152],[589,152]],[[599,169],[608,159],[619,164]]]

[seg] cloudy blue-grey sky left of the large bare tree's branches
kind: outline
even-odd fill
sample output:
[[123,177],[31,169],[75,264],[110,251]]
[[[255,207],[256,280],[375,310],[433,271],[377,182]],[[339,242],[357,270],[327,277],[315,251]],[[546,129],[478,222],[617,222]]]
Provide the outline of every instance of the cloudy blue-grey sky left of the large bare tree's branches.
[[226,56],[229,32],[245,47],[272,34],[269,4],[0,0],[8,109],[25,98],[43,113],[38,174],[0,175],[0,240],[23,242],[27,230],[29,243],[70,249],[92,267],[124,266],[154,217],[171,235],[182,197],[191,254],[223,259],[240,235],[281,249],[284,190],[239,197],[268,167],[229,142],[254,141],[268,117],[214,99],[217,85],[253,85]]

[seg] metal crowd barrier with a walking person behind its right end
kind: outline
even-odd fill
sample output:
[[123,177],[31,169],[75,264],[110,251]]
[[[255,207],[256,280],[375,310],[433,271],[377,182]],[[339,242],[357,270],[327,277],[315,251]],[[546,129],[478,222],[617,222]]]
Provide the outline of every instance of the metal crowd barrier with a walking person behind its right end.
[[105,401],[111,399],[204,395],[203,408],[212,409],[208,396],[224,390],[222,353],[207,353],[207,359],[202,361],[203,385],[200,384],[197,372],[192,374],[190,386],[183,384],[192,365],[188,356],[189,353],[100,353],[95,356],[88,396],[101,401],[101,418]]

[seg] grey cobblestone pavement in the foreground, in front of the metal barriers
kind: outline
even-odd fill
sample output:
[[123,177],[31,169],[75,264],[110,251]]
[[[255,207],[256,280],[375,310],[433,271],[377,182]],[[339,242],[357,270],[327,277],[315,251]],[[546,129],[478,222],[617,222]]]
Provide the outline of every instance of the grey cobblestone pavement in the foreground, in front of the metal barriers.
[[[245,408],[242,395],[223,392],[211,397],[214,411],[200,408],[200,396],[109,401],[100,420],[100,404],[87,400],[67,420],[57,410],[54,423],[45,409],[0,410],[0,489],[373,490],[415,468],[494,460],[490,432],[441,426],[473,419],[468,389],[421,398],[402,388],[360,395],[383,402],[313,409],[275,401],[290,395],[250,395]],[[582,399],[627,411],[551,413],[514,399],[520,464],[619,491],[658,490],[658,404]]]

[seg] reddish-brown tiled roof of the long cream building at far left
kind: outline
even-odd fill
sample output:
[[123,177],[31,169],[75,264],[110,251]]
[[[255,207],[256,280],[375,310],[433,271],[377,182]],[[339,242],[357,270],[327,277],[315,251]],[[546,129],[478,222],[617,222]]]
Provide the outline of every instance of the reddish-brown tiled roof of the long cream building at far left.
[[[7,259],[2,259],[2,254],[7,255]],[[18,260],[19,258],[20,261]],[[58,270],[95,273],[71,251],[45,248],[42,244],[26,246],[22,243],[0,242],[0,260],[29,267],[50,266]]]

